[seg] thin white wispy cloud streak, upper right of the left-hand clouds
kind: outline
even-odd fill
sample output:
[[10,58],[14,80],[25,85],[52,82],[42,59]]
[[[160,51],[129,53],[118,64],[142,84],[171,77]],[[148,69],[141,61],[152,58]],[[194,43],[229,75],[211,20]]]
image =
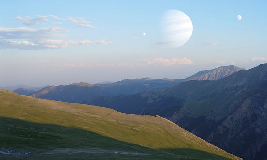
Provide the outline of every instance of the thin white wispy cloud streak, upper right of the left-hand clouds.
[[67,17],[67,19],[64,19],[64,18],[59,18],[58,16],[55,16],[55,15],[48,15],[50,16],[51,18],[54,18],[54,19],[60,19],[60,20],[67,20],[67,21],[70,21],[73,23],[74,26],[76,27],[90,27],[90,28],[97,28],[96,26],[92,26],[90,25],[90,21],[86,21],[85,18],[82,18],[82,17]]

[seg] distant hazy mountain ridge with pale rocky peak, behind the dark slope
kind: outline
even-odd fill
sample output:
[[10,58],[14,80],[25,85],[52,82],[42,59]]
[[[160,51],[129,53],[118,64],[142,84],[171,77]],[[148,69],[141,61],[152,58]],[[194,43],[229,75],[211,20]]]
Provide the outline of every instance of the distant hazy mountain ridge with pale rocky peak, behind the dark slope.
[[231,65],[213,70],[200,71],[186,79],[126,79],[111,84],[95,85],[89,83],[73,83],[65,86],[49,86],[30,96],[63,102],[82,103],[95,96],[118,96],[123,94],[137,94],[146,90],[165,89],[187,80],[217,80],[239,70],[244,69]]

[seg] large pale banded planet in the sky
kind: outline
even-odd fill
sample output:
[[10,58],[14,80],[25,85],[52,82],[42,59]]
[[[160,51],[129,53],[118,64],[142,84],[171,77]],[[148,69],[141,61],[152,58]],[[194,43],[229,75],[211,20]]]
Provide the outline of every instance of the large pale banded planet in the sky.
[[172,47],[184,45],[191,37],[193,25],[189,16],[179,10],[168,10],[161,22],[164,44]]

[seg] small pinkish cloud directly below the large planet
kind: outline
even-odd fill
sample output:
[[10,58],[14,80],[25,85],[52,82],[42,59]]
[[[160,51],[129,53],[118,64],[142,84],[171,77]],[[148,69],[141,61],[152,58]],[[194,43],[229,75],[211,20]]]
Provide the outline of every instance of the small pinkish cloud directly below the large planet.
[[[170,66],[173,64],[193,64],[193,62],[190,59],[187,59],[186,57],[179,59],[179,58],[173,58],[171,60],[169,59],[164,59],[164,58],[156,58],[153,60],[148,60],[147,64],[165,64],[166,66]],[[146,65],[146,64],[141,64],[141,65]]]

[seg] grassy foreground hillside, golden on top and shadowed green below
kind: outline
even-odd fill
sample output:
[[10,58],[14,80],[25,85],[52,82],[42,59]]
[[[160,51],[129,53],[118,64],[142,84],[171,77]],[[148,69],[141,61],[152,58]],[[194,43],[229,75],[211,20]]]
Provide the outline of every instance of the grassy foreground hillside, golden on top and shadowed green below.
[[[171,121],[0,90],[0,158],[240,159]],[[4,154],[8,153],[8,154]]]

